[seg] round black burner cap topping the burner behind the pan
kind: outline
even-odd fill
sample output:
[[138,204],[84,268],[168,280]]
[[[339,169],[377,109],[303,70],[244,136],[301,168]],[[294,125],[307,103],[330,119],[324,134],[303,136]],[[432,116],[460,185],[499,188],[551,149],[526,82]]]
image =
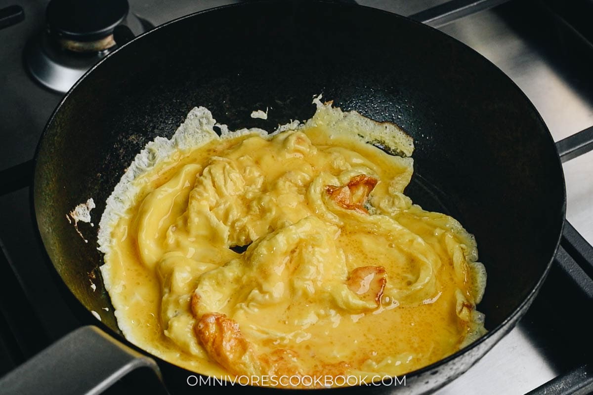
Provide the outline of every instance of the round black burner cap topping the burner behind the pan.
[[51,0],[47,25],[52,34],[66,40],[101,40],[113,34],[129,8],[127,0]]

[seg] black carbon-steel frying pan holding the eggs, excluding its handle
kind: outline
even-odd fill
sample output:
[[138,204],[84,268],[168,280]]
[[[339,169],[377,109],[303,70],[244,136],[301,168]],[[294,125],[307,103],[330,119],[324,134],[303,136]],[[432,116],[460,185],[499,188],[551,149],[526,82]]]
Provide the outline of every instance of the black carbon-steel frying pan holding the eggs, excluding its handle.
[[[488,274],[486,336],[410,372],[405,387],[339,391],[433,390],[512,329],[546,277],[565,218],[562,167],[540,115],[499,69],[439,31],[356,5],[283,1],[199,12],[133,40],[87,73],[47,124],[33,190],[39,232],[69,292],[113,338],[126,342],[97,270],[97,226],[78,224],[84,243],[66,213],[93,197],[98,224],[136,153],[170,137],[192,107],[231,129],[273,130],[309,118],[317,94],[414,137],[407,193],[460,220]],[[266,107],[267,121],[250,118]],[[208,389],[155,359],[171,392]]]

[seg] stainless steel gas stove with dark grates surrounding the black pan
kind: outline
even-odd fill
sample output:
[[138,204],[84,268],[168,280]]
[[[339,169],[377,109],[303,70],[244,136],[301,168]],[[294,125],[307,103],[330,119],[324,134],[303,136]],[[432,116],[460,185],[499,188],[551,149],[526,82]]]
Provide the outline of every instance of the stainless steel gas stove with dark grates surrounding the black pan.
[[[103,5],[111,7],[102,17],[104,24],[90,26],[73,25],[64,17],[68,1],[52,0],[46,14],[47,1],[0,0],[0,375],[88,323],[77,318],[56,284],[30,209],[28,160],[63,92],[116,48],[119,36],[126,40],[174,18],[236,2],[106,1]],[[593,4],[356,3],[432,25],[495,63],[533,102],[563,160],[568,222],[540,294],[515,329],[438,394],[593,392],[587,325],[593,306],[593,30],[588,23]],[[75,56],[61,58],[56,45]],[[138,389],[138,380],[143,381],[122,380],[107,393]]]

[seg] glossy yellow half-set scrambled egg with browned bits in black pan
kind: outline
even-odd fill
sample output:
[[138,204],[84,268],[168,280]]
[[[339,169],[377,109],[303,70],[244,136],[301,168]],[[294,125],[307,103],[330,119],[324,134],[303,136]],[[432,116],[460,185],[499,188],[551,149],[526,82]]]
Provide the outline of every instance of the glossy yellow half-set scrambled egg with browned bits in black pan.
[[485,332],[473,236],[404,195],[412,139],[315,102],[271,135],[195,108],[132,163],[99,234],[127,339],[205,375],[400,375]]

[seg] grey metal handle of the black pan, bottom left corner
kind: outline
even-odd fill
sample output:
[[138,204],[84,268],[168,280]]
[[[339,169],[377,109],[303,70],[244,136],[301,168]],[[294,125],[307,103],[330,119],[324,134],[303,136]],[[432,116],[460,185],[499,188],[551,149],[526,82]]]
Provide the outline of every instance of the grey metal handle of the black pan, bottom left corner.
[[116,341],[96,326],[83,326],[0,379],[0,394],[94,395],[139,368],[154,372],[168,394],[157,362]]

